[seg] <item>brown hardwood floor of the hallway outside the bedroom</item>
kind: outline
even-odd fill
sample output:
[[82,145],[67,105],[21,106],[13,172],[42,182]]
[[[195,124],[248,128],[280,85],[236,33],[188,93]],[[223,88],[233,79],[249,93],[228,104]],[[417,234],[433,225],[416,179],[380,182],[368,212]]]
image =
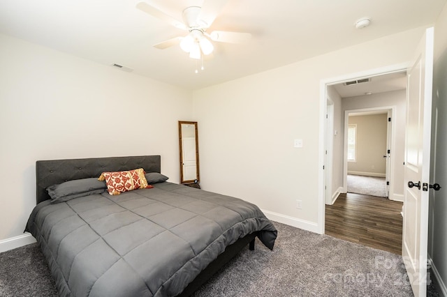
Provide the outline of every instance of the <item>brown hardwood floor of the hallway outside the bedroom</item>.
[[402,254],[402,202],[341,194],[325,208],[325,234]]

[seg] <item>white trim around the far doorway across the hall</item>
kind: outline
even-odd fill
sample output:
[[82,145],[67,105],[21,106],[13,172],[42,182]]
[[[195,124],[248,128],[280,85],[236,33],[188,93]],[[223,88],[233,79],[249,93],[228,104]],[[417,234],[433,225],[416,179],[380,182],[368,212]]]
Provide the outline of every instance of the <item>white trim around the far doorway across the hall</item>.
[[[367,107],[367,108],[361,108],[361,109],[349,109],[349,110],[345,110],[344,112],[344,160],[343,160],[343,191],[347,192],[348,191],[348,153],[346,148],[348,147],[348,122],[349,122],[349,115],[350,114],[358,114],[358,115],[362,115],[362,114],[375,114],[376,112],[382,112],[382,114],[387,114],[387,119],[391,118],[391,122],[387,122],[387,127],[386,127],[386,149],[390,150],[391,153],[393,153],[393,147],[394,147],[394,142],[395,139],[393,137],[393,135],[395,135],[395,125],[393,125],[393,115],[396,114],[396,107],[395,106],[383,106],[383,107]],[[390,189],[393,189],[393,185],[394,185],[394,180],[391,180],[393,174],[391,174],[391,167],[389,165],[389,160],[390,160],[390,154],[386,153],[387,155],[387,165],[386,165],[386,181],[390,182],[390,187],[386,187],[386,194],[388,199],[390,199],[390,195],[389,192],[393,192],[390,191]]]

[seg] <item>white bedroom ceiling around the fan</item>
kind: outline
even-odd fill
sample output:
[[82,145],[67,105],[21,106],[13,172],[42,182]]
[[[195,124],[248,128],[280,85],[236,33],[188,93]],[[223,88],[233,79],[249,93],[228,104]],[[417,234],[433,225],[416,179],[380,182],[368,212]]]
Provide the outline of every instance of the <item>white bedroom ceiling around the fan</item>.
[[[203,0],[145,0],[182,20]],[[213,0],[208,0],[213,1]],[[184,35],[135,8],[139,0],[3,0],[0,32],[161,82],[200,89],[311,56],[433,24],[446,0],[228,0],[209,31],[252,34],[244,45],[214,43],[205,70],[178,46],[152,45]],[[356,29],[360,17],[371,25]]]

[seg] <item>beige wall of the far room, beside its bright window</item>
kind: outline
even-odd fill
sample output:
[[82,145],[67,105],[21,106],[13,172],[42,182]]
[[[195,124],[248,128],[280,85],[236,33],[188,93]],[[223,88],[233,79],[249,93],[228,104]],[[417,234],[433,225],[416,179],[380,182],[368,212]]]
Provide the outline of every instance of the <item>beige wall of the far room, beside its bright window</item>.
[[357,125],[357,139],[356,161],[348,162],[348,174],[386,176],[387,122],[387,114],[349,116],[349,125]]

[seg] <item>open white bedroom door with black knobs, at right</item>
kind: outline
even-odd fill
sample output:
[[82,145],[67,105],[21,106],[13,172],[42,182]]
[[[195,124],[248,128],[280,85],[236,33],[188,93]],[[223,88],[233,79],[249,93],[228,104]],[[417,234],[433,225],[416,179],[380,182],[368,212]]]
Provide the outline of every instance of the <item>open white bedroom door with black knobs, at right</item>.
[[427,294],[432,78],[433,28],[430,28],[425,31],[407,73],[402,257],[416,297]]

